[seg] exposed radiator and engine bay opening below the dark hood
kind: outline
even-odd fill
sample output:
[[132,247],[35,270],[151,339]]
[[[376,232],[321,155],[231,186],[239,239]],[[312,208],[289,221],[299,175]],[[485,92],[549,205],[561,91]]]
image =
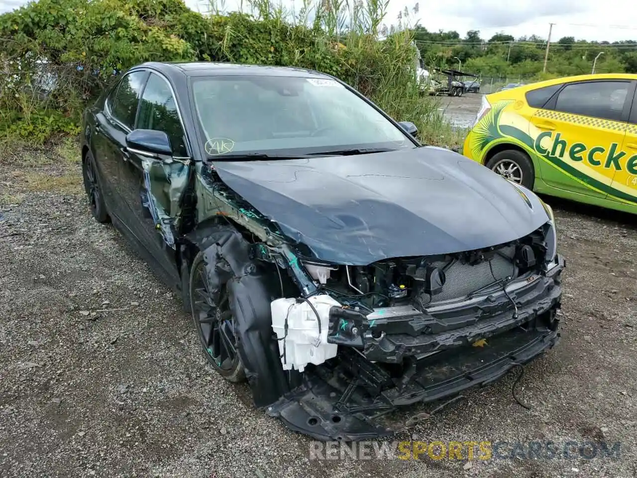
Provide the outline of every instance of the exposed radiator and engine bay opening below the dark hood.
[[396,257],[369,266],[306,268],[325,293],[350,307],[371,310],[410,305],[424,308],[503,289],[511,280],[540,271],[544,231],[512,243],[455,254]]

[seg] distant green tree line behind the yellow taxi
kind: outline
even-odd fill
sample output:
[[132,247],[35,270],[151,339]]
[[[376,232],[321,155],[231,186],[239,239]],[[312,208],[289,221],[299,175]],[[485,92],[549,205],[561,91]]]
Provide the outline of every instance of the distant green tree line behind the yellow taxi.
[[[489,40],[470,30],[464,38],[457,31],[430,32],[416,27],[414,40],[424,63],[433,67],[462,65],[463,71],[478,75],[515,80],[546,80],[560,76],[591,73],[599,53],[596,73],[637,73],[637,41],[575,40],[566,36],[552,41],[547,71],[543,72],[547,40],[537,35],[514,38],[499,33]],[[459,61],[461,63],[459,63]]]

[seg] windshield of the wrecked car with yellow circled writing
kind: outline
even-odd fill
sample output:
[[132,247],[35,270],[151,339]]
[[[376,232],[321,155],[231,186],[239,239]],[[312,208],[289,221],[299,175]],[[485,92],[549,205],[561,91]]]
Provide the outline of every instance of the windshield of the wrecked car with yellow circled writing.
[[341,83],[295,76],[192,78],[206,154],[320,154],[417,145]]

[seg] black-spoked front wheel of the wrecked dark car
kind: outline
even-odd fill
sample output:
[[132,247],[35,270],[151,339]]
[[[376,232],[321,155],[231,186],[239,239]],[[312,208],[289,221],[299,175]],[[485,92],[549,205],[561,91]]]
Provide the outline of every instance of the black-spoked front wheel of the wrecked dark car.
[[238,353],[235,321],[230,308],[233,298],[227,284],[210,289],[203,252],[190,268],[192,321],[210,365],[229,382],[243,382],[245,369]]

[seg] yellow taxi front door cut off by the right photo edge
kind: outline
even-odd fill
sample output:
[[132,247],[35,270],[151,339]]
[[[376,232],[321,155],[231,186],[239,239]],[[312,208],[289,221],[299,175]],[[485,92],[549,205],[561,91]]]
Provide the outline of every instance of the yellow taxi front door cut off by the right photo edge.
[[626,152],[626,161],[622,170],[615,171],[613,191],[608,199],[627,202],[637,208],[637,98],[633,99],[622,150]]

